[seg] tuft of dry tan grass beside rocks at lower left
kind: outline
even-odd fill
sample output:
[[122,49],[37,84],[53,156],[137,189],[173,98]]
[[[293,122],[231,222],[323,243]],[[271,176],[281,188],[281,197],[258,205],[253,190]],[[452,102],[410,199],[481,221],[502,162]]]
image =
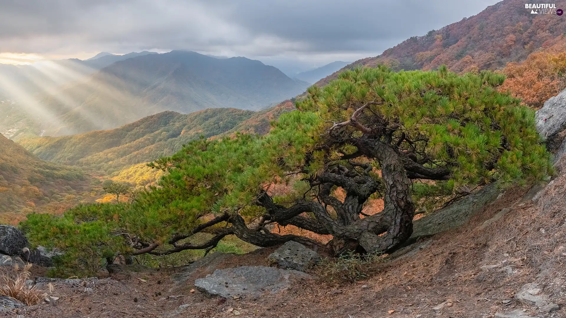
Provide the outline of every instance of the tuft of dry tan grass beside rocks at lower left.
[[19,271],[18,266],[12,273],[3,273],[0,276],[0,295],[18,300],[28,306],[39,303],[43,291],[37,290],[36,286],[29,287],[25,281],[29,278],[29,269],[32,264],[27,264]]

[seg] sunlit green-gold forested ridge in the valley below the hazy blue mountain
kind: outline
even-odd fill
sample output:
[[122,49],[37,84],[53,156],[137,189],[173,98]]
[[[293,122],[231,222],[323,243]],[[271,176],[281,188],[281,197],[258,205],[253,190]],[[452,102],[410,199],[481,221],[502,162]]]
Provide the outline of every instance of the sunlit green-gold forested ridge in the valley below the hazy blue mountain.
[[36,156],[104,173],[169,156],[199,136],[230,131],[254,111],[215,108],[191,114],[164,111],[113,130],[38,137],[18,142]]

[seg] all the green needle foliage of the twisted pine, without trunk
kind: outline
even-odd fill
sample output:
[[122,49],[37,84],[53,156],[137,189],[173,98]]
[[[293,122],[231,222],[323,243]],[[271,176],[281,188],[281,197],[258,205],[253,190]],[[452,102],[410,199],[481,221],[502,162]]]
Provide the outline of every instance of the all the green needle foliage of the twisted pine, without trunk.
[[[21,226],[34,244],[65,251],[60,270],[88,272],[104,257],[132,252],[133,238],[161,243],[158,250],[166,250],[172,235],[187,233],[209,216],[239,213],[254,220],[265,213],[253,204],[261,190],[273,182],[294,182],[294,190],[274,199],[286,204],[308,197],[314,190],[298,180],[319,174],[340,153],[355,152],[327,131],[351,117],[351,105],[367,101],[383,103],[367,109],[363,124],[376,127],[379,118],[396,123],[393,140],[404,134],[412,143],[400,143],[400,151],[414,151],[417,160],[427,156],[430,167],[451,169],[447,181],[414,181],[413,194],[423,205],[427,198],[451,196],[463,187],[546,179],[552,173],[550,155],[539,142],[533,111],[496,90],[503,80],[490,72],[458,76],[445,68],[344,72],[327,87],[311,87],[297,102],[299,110],[282,114],[265,136],[201,138],[152,162],[149,166],[166,174],[132,203],[83,205],[63,217],[30,214]],[[348,135],[361,134],[346,126],[341,136]]]

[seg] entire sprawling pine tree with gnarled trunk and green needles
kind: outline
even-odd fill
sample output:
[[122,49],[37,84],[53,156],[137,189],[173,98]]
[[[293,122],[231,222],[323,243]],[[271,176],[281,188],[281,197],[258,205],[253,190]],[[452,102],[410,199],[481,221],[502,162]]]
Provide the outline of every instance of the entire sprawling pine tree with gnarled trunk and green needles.
[[[410,237],[415,210],[477,186],[507,187],[552,174],[532,110],[482,71],[346,71],[311,87],[296,111],[265,136],[192,141],[151,164],[168,171],[131,204],[82,205],[63,217],[31,214],[31,242],[60,248],[63,268],[93,270],[105,257],[207,250],[228,235],[256,246],[288,240],[338,255],[394,250]],[[270,196],[274,182],[293,190]],[[346,196],[338,199],[333,190]],[[381,213],[361,216],[368,199]],[[440,200],[440,203],[446,200]],[[438,204],[438,202],[436,202]],[[271,233],[295,225],[333,240]],[[194,240],[201,233],[210,239]],[[381,235],[380,235],[381,234]]]

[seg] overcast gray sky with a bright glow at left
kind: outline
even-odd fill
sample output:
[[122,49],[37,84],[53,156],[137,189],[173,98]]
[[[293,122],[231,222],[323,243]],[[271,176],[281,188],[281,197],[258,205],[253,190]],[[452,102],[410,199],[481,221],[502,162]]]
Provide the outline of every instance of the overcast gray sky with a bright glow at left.
[[379,55],[495,0],[2,0],[0,53],[88,58],[173,49],[266,63]]

